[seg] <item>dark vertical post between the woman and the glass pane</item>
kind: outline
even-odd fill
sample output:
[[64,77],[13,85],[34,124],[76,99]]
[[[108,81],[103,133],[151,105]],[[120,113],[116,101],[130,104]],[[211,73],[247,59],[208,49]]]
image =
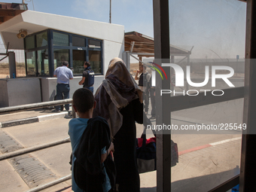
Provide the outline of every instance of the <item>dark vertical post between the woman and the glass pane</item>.
[[[161,65],[162,59],[169,60],[169,1],[153,0],[154,11],[154,62]],[[167,78],[168,68],[163,67]],[[170,124],[170,110],[163,105],[169,96],[160,96],[160,89],[168,89],[169,81],[161,81],[157,75],[156,82],[156,120],[157,124]],[[165,111],[167,110],[167,111]],[[157,192],[171,191],[171,135],[157,134]]]

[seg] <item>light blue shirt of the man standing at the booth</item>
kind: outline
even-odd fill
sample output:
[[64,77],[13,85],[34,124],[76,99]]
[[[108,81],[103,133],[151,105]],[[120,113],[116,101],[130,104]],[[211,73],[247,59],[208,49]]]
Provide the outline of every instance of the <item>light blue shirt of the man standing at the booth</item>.
[[58,67],[53,72],[57,76],[57,84],[69,84],[69,79],[73,78],[73,72],[66,66]]

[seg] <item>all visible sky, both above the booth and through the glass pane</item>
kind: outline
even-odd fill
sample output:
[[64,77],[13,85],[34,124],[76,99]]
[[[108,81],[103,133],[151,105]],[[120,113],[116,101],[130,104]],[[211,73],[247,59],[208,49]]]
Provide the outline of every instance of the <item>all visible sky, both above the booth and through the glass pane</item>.
[[[22,3],[22,0],[3,0]],[[25,0],[29,10],[109,22],[109,0]],[[190,58],[244,58],[246,3],[169,0],[170,43]],[[153,0],[111,0],[111,23],[154,38]]]

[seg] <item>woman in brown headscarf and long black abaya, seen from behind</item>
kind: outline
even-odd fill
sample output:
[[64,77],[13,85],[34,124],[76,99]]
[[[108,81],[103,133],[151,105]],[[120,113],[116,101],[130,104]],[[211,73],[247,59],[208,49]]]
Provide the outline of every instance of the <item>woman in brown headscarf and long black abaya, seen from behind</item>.
[[117,191],[140,191],[136,164],[136,122],[143,123],[142,91],[122,59],[111,60],[95,94],[93,116],[108,120],[114,142]]

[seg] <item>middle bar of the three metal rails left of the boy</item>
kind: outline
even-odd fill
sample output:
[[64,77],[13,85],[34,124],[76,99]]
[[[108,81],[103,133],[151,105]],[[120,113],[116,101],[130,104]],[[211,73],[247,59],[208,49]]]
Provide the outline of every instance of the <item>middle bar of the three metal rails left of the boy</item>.
[[6,160],[6,159],[9,159],[9,158],[12,158],[12,157],[17,157],[17,156],[22,155],[22,154],[29,154],[30,152],[38,151],[38,150],[41,150],[41,149],[44,149],[44,148],[50,148],[50,147],[53,147],[53,146],[56,146],[56,145],[61,145],[61,144],[64,144],[66,142],[70,142],[69,137],[66,138],[66,139],[62,139],[60,141],[57,141],[57,142],[51,142],[51,143],[47,143],[47,144],[43,144],[43,145],[32,146],[30,148],[23,148],[23,149],[20,149],[20,150],[17,150],[17,151],[10,152],[8,154],[2,154],[0,156],[0,161],[1,160]]

